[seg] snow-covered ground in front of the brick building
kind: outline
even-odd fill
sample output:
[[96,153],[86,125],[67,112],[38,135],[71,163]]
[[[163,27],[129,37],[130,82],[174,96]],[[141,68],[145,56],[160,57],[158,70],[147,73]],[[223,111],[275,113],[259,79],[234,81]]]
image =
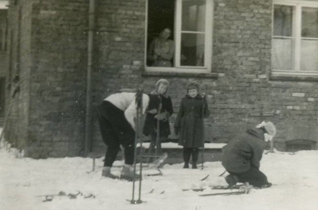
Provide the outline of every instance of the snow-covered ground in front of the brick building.
[[[137,205],[126,201],[132,198],[132,182],[102,178],[102,158],[88,174],[91,164],[90,158],[80,157],[19,158],[14,149],[0,149],[0,210],[318,210],[318,151],[264,154],[261,170],[273,186],[247,195],[199,197],[222,190],[182,191],[225,184],[218,177],[224,171],[220,162],[207,162],[203,170],[164,165],[163,176],[144,177],[144,203]],[[113,167],[113,173],[119,175],[120,168]],[[206,175],[210,176],[200,181]],[[43,202],[41,195],[61,191],[83,195]],[[89,194],[95,198],[84,198]]]

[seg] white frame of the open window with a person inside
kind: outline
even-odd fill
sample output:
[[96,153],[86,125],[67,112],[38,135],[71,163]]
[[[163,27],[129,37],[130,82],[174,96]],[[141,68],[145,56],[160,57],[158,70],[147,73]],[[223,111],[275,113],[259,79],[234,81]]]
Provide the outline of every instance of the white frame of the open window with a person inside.
[[[181,57],[181,8],[182,0],[174,0],[174,67],[153,67],[147,66],[147,32],[148,32],[148,0],[146,0],[146,30],[145,30],[145,70],[147,72],[174,72],[174,73],[211,73],[212,68],[212,34],[213,34],[213,0],[206,0],[205,10],[205,48],[204,65],[201,66],[180,66]],[[183,31],[185,32],[185,31]],[[187,32],[187,31],[186,31]],[[200,32],[198,32],[200,33]]]

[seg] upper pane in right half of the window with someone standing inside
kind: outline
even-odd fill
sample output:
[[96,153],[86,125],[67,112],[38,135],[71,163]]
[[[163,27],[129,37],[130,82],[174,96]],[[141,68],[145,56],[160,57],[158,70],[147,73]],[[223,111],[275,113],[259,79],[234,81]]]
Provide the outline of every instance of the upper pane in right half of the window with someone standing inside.
[[181,18],[182,18],[181,30],[204,31],[205,0],[183,0]]

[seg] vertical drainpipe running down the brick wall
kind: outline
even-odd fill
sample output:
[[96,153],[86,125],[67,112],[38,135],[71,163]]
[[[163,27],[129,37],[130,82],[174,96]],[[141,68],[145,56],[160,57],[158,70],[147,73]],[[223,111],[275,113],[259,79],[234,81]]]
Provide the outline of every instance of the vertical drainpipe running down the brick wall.
[[86,118],[85,118],[85,142],[84,155],[92,149],[92,65],[93,65],[93,40],[95,27],[95,0],[89,0],[88,11],[88,46],[87,46],[87,81],[86,81]]

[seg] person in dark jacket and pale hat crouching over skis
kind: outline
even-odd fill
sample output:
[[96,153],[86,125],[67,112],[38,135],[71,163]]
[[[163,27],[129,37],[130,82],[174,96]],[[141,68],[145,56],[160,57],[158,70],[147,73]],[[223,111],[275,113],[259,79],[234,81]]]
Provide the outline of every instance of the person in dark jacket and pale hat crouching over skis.
[[230,173],[225,180],[229,187],[238,182],[248,182],[257,188],[268,188],[272,184],[260,170],[260,160],[266,147],[276,134],[272,122],[262,122],[255,128],[247,129],[222,148],[222,165]]

